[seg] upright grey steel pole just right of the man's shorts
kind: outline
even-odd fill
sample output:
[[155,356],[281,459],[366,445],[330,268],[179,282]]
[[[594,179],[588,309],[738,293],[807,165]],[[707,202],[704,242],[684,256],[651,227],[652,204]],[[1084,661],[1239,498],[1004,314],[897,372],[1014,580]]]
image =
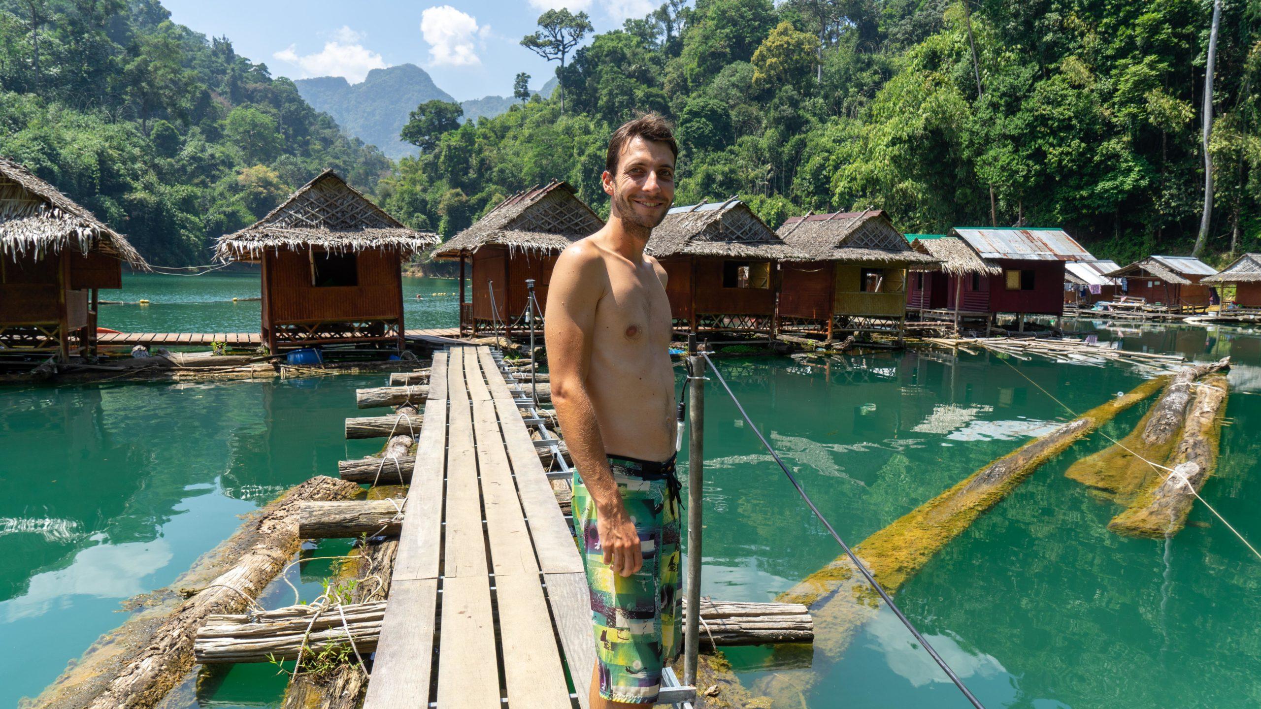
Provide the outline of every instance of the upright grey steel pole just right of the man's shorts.
[[[695,339],[692,339],[695,344]],[[696,686],[701,618],[701,508],[705,497],[705,358],[690,347],[687,358],[687,627],[683,638],[683,684]]]

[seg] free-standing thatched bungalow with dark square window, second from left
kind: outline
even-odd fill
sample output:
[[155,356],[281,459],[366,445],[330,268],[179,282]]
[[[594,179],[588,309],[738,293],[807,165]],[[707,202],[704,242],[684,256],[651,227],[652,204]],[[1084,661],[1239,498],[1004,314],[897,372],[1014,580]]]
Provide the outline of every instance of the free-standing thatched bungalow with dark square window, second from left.
[[262,264],[262,338],[404,346],[402,261],[434,243],[324,170],[266,217],[221,236],[222,261]]

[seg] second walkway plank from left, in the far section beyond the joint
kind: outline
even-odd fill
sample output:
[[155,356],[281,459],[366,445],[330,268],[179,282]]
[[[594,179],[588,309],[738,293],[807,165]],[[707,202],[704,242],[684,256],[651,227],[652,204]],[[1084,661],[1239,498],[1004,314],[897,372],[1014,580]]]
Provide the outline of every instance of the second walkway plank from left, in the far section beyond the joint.
[[[473,440],[473,411],[464,389],[467,348],[451,351],[448,365],[450,425],[446,443],[446,531],[444,534],[446,579],[485,577],[485,535],[482,529],[482,492],[477,478]],[[444,592],[445,593],[445,592]]]

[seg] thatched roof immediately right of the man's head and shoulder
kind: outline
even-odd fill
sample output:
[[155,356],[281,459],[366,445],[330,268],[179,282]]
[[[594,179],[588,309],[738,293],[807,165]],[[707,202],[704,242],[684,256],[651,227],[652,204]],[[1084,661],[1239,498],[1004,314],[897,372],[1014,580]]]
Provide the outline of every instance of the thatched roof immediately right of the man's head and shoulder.
[[808,261],[803,251],[784,243],[753,209],[735,197],[721,203],[675,207],[652,230],[646,251],[668,256],[774,259]]

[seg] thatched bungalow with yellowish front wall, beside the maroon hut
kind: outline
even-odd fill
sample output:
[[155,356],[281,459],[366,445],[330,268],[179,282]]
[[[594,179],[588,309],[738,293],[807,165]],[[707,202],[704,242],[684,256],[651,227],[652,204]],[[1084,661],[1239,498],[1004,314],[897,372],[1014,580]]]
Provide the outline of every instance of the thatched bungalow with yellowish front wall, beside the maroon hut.
[[808,261],[779,269],[779,327],[902,331],[907,269],[937,261],[907,243],[881,209],[789,217],[778,230]]

